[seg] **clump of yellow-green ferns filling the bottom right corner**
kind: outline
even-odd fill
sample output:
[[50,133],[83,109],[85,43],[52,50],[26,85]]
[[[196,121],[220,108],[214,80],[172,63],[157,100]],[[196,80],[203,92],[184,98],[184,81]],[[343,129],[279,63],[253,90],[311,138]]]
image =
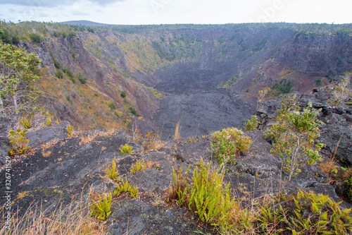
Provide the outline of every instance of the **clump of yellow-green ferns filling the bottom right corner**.
[[277,195],[258,213],[258,230],[273,234],[349,234],[352,231],[351,209],[341,211],[328,195],[306,193]]

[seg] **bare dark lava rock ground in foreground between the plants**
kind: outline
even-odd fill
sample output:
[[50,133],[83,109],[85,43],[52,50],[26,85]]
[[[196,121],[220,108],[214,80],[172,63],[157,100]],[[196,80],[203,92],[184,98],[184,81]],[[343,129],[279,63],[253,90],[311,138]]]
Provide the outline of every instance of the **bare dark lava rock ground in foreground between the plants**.
[[[106,178],[104,170],[111,166],[115,157],[119,174],[139,188],[139,197],[132,199],[122,194],[113,200],[107,222],[109,234],[218,233],[187,208],[165,203],[165,190],[172,181],[172,168],[187,169],[191,164],[192,172],[201,157],[206,162],[213,161],[208,136],[198,140],[170,140],[158,151],[146,151],[129,135],[119,131],[89,131],[68,138],[66,125],[63,122],[29,132],[30,152],[13,159],[13,208],[18,208],[20,213],[33,203],[42,203],[44,210],[52,210],[61,203],[68,205],[80,198],[92,198],[94,193],[113,191],[115,183]],[[243,205],[265,194],[279,191],[294,193],[297,188],[328,194],[330,198],[341,201],[334,186],[329,184],[329,178],[316,165],[303,167],[301,174],[294,176],[290,182],[282,183],[281,162],[270,154],[272,145],[264,139],[262,131],[248,131],[246,135],[253,140],[251,149],[237,159],[236,165],[227,165],[225,174],[225,181],[230,182],[234,197],[239,198]],[[119,148],[126,143],[133,146],[133,155],[121,155]],[[132,175],[130,167],[138,159],[151,164],[145,171]],[[4,174],[5,171],[1,171],[1,179],[4,179]],[[4,191],[4,183],[1,183],[1,193]],[[3,200],[4,193],[0,196]],[[344,202],[341,207],[351,205]]]

